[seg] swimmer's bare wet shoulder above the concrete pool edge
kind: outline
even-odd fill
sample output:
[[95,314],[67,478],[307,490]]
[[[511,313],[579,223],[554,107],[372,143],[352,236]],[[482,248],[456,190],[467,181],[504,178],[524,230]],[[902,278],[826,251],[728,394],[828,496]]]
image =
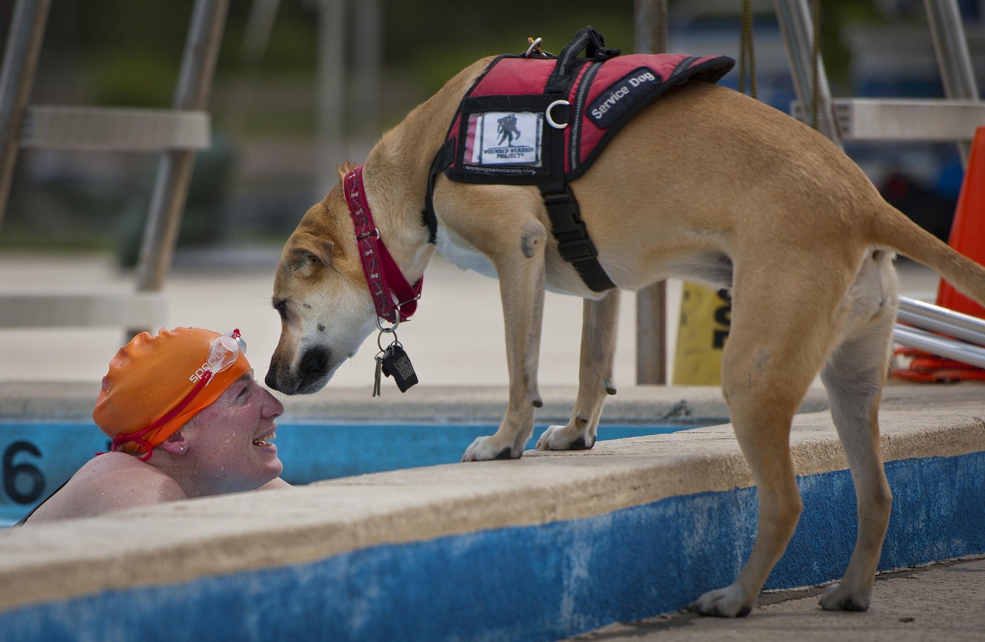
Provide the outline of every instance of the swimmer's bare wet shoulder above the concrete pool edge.
[[64,488],[37,509],[29,523],[93,517],[185,498],[177,481],[153,466],[123,453],[106,453],[79,469]]

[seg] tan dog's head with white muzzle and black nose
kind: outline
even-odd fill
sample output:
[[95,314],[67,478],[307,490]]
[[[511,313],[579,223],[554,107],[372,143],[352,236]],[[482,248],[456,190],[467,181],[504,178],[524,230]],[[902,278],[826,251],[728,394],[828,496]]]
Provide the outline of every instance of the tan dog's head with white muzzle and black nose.
[[[340,177],[349,169],[340,167]],[[321,390],[375,327],[341,183],[307,211],[284,246],[273,303],[281,340],[266,383],[289,395]]]

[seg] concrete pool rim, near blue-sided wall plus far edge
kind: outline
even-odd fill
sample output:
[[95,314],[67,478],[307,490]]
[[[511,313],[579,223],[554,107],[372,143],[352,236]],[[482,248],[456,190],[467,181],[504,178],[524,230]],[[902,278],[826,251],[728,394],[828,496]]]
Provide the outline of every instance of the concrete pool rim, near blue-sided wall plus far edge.
[[[97,390],[8,385],[0,416],[79,417]],[[292,417],[489,420],[506,398],[502,388],[327,392],[290,400]],[[542,392],[538,422],[566,418],[574,389]],[[719,400],[716,388],[629,388],[603,418],[722,417]],[[854,492],[825,406],[812,389],[794,422],[805,512],[767,588],[839,577],[854,542]],[[881,568],[985,552],[981,417],[982,385],[886,387],[896,501]],[[136,639],[141,618],[164,607],[188,612],[175,637],[216,632],[223,610],[237,639],[558,639],[678,610],[730,582],[755,534],[751,483],[726,424],[12,529],[0,533],[0,630]],[[132,613],[118,612],[121,600]],[[293,613],[290,630],[255,612],[270,600]]]

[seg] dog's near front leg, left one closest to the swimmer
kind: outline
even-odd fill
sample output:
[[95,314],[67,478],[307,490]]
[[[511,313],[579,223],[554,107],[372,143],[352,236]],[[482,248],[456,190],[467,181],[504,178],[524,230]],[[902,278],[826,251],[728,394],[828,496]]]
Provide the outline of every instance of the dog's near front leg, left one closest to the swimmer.
[[519,231],[518,242],[500,243],[490,257],[499,276],[506,326],[509,406],[495,434],[473,441],[463,462],[519,458],[534,431],[534,408],[543,404],[537,388],[537,360],[544,317],[547,229],[531,221]]

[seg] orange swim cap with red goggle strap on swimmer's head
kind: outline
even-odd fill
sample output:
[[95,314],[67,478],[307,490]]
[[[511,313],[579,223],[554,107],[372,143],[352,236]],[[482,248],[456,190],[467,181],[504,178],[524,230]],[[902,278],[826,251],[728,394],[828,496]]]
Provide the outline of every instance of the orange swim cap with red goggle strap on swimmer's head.
[[[138,435],[152,449],[163,443],[249,372],[249,361],[239,351],[228,368],[213,373],[203,386],[202,369],[210,347],[222,336],[199,328],[162,328],[157,337],[147,332],[134,337],[109,361],[109,372],[102,377],[102,390],[93,410],[96,425],[110,437],[119,437],[173,414],[162,425]],[[198,392],[188,399],[196,388]],[[187,405],[179,408],[185,402]],[[130,454],[142,449],[133,442],[118,448]],[[150,452],[146,456],[149,459]]]

